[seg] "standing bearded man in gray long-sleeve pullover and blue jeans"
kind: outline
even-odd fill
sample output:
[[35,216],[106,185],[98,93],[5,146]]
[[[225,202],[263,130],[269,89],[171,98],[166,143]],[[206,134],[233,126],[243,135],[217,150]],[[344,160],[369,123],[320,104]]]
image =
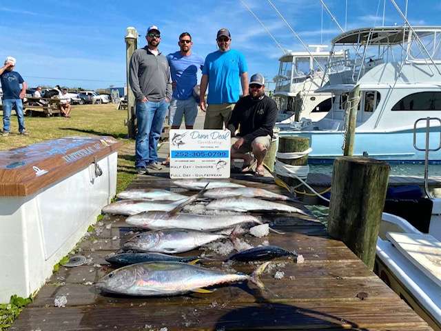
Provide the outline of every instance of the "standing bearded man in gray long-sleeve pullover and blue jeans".
[[157,26],[147,29],[147,46],[135,50],[130,59],[129,81],[136,98],[136,161],[139,174],[158,165],[158,141],[172,99],[172,81],[168,61],[158,50],[161,32]]

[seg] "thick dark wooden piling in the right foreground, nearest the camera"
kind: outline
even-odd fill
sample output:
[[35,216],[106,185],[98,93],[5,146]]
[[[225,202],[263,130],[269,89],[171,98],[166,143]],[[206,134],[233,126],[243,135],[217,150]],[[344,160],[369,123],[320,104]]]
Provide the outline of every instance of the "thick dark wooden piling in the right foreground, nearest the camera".
[[343,241],[371,270],[390,170],[389,163],[366,157],[334,161],[328,234]]

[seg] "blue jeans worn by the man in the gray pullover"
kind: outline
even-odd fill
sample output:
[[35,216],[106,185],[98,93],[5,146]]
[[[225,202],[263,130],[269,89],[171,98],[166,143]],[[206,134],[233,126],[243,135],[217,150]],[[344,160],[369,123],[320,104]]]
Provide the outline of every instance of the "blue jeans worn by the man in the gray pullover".
[[145,168],[147,164],[158,161],[158,142],[167,109],[168,103],[165,100],[136,103],[136,168]]

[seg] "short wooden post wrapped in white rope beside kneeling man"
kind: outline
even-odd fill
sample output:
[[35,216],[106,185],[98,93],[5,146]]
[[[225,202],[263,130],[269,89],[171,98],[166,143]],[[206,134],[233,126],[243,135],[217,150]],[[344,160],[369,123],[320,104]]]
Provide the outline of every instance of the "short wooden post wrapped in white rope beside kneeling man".
[[[305,152],[309,148],[309,138],[307,137],[278,137],[278,151],[282,153]],[[289,165],[307,165],[308,156],[300,157],[300,159],[281,159],[278,161]],[[285,181],[289,186],[300,184],[298,179],[277,175],[278,178]]]

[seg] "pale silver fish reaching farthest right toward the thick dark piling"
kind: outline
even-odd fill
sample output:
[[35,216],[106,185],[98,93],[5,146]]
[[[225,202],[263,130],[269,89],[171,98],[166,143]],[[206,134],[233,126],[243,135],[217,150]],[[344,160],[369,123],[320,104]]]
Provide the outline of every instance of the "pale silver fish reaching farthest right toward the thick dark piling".
[[256,198],[232,197],[216,199],[209,202],[205,208],[207,208],[207,210],[232,210],[235,212],[297,212],[298,214],[309,216],[303,210],[291,207],[291,205]]

